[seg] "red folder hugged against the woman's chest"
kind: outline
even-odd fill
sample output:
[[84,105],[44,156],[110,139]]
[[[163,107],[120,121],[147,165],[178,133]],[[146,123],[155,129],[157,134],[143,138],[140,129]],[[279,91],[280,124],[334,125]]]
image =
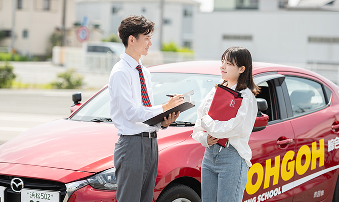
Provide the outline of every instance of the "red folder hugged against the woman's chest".
[[[240,92],[219,84],[209,107],[208,115],[213,120],[228,121],[237,115],[242,98]],[[225,147],[226,143],[227,138],[218,140],[218,144],[221,146]]]

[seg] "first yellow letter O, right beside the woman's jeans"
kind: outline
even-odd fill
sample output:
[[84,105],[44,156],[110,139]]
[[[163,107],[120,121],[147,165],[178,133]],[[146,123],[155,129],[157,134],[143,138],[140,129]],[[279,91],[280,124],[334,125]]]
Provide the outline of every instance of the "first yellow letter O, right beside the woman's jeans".
[[[252,177],[255,173],[257,173],[258,175],[257,182],[255,184],[252,184]],[[256,193],[259,190],[261,184],[263,183],[263,179],[264,179],[263,166],[260,163],[253,164],[248,170],[246,192],[248,194]]]

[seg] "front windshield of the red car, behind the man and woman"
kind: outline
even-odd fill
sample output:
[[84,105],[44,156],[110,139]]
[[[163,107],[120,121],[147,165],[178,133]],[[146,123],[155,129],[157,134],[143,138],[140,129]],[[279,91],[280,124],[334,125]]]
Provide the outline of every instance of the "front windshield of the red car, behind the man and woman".
[[[191,101],[195,101],[195,107],[180,113],[177,122],[195,123],[196,111],[205,95],[215,84],[220,83],[220,76],[187,73],[151,73],[154,104],[161,105],[167,102],[166,94],[183,94],[194,89]],[[104,89],[90,102],[83,106],[71,120],[76,121],[98,121],[103,119],[109,121],[110,106],[109,92]]]

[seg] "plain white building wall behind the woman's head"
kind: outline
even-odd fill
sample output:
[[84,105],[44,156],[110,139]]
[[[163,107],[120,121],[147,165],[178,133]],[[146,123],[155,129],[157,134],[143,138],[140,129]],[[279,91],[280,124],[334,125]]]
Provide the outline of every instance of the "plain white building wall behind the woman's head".
[[[230,11],[199,13],[194,19],[196,59],[220,60],[230,46],[249,49],[253,61],[339,63],[339,43],[311,43],[309,36],[339,37],[339,12]],[[223,40],[223,35],[252,40]]]

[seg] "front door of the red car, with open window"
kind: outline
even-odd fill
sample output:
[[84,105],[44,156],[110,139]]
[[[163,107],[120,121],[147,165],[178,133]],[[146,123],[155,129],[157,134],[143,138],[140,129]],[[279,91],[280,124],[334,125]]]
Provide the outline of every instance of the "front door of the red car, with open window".
[[252,166],[248,170],[247,185],[242,201],[292,201],[293,189],[283,186],[293,182],[295,161],[294,133],[285,106],[281,85],[284,76],[276,72],[256,75],[261,93],[257,98],[267,101],[269,116],[265,129],[252,132]]

